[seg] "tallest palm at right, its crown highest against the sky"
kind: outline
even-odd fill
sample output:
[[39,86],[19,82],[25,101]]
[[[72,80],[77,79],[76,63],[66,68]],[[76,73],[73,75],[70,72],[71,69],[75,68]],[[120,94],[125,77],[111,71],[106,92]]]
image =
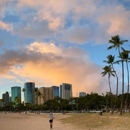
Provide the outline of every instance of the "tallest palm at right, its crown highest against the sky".
[[[111,37],[111,40],[109,40],[109,43],[112,44],[112,46],[108,47],[108,50],[112,48],[118,49],[119,57],[121,58],[120,48],[121,45],[123,45],[125,42],[128,42],[128,40],[121,40],[119,35]],[[121,98],[121,106],[120,106],[120,115],[122,115],[122,109],[123,109],[123,94],[124,94],[124,62],[121,60],[122,63],[122,98]]]

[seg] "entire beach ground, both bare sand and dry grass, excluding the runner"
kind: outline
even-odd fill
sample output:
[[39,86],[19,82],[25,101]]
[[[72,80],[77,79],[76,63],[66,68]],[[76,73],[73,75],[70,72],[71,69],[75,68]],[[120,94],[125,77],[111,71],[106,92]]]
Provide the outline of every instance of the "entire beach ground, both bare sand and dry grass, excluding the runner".
[[[53,130],[129,130],[130,115],[54,113]],[[0,113],[0,130],[50,130],[47,113]]]

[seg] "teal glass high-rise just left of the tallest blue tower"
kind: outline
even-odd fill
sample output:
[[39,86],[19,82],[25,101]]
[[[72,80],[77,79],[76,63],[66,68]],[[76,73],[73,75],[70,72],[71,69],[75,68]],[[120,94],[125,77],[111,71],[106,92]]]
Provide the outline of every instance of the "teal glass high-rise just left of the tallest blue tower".
[[18,97],[21,101],[21,87],[14,86],[11,87],[11,101],[15,102],[15,97]]

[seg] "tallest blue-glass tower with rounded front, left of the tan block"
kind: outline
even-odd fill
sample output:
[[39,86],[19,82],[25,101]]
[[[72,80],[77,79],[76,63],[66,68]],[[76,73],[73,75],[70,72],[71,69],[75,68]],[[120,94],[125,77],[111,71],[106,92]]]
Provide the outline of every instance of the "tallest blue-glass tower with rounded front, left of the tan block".
[[25,88],[25,103],[35,104],[35,83],[34,82],[26,82],[24,84]]

